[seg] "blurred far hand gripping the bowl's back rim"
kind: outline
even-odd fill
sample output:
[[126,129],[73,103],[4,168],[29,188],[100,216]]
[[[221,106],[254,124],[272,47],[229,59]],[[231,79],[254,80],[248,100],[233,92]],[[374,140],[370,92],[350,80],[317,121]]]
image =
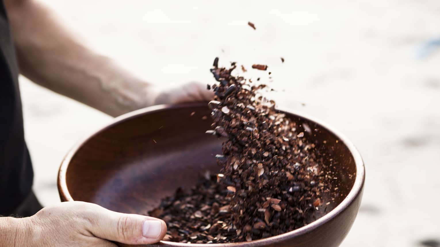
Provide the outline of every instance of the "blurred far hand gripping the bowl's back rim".
[[157,104],[176,104],[195,101],[210,101],[214,97],[212,90],[206,89],[206,84],[187,82],[173,85],[154,85],[147,89],[147,106]]

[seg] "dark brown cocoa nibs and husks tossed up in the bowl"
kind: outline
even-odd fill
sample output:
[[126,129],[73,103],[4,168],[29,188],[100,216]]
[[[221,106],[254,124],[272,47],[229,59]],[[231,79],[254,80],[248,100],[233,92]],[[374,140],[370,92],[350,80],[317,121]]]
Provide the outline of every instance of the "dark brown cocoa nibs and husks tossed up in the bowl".
[[217,83],[208,85],[215,97],[209,102],[213,130],[207,133],[225,138],[223,154],[216,155],[221,173],[206,174],[150,212],[167,223],[165,240],[258,240],[305,226],[329,204],[322,196],[323,160],[307,139],[308,125],[277,111],[264,97],[268,87],[231,75],[235,68],[219,68],[216,58],[211,72]]

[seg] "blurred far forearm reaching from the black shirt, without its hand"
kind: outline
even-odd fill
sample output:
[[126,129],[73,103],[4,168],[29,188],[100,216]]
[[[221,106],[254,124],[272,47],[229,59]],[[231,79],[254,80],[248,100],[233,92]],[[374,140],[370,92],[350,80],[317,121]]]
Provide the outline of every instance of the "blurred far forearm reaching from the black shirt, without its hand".
[[48,8],[35,0],[6,3],[23,75],[113,116],[148,105],[147,83],[93,53]]

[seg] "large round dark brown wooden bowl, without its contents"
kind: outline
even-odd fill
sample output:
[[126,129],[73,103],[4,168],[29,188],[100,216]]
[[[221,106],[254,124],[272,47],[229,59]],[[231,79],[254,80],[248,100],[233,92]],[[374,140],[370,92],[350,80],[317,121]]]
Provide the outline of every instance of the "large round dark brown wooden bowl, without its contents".
[[[328,186],[338,187],[339,196],[328,200],[331,203],[326,215],[300,229],[262,240],[210,247],[332,247],[338,246],[351,228],[365,179],[359,152],[327,125],[284,112],[298,124],[307,124],[312,129],[305,132],[308,138],[327,150],[326,162],[335,176]],[[194,185],[206,170],[220,170],[214,156],[221,153],[221,140],[205,134],[212,123],[209,114],[206,103],[190,103],[148,107],[116,118],[66,155],[58,177],[61,200],[87,201],[113,211],[147,215],[178,187]],[[204,120],[203,116],[208,118]],[[161,241],[152,246],[206,244]]]

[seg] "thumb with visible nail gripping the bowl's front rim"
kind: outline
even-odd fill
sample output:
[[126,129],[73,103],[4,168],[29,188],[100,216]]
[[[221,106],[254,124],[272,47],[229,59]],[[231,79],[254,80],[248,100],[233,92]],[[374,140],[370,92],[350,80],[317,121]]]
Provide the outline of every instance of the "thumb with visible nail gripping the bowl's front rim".
[[123,214],[99,207],[90,215],[90,232],[102,239],[127,244],[159,242],[166,234],[163,220],[133,214]]

